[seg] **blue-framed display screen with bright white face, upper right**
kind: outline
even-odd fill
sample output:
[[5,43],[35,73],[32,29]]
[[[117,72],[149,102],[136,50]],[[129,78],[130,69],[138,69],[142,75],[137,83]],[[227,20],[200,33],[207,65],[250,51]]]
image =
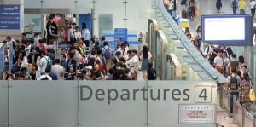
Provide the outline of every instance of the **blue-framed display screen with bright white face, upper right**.
[[204,43],[247,43],[246,15],[203,15],[201,21]]

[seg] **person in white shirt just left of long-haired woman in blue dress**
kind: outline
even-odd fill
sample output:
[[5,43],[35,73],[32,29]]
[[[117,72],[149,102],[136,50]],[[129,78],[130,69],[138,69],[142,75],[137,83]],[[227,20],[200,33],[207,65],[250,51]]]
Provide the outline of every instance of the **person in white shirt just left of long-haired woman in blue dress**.
[[131,63],[129,63],[129,68],[131,69],[131,77],[134,77],[137,80],[137,72],[138,72],[138,63],[139,59],[137,57],[137,50],[131,50]]

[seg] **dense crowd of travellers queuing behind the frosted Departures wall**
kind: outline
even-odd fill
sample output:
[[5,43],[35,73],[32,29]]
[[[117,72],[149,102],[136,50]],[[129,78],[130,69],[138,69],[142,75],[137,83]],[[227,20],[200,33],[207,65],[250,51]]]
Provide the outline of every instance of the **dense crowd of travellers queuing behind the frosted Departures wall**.
[[[74,23],[73,28],[76,28],[73,32],[79,32],[78,26]],[[100,42],[90,38],[87,44],[86,36],[74,34],[67,41],[70,45],[62,48],[60,58],[56,58],[58,49],[54,44],[54,38],[40,38],[37,34],[35,38],[28,39],[25,33],[21,34],[21,38],[19,41],[7,37],[3,41],[6,45],[6,57],[11,57],[9,50],[14,53],[14,66],[11,68],[11,73],[5,73],[4,79],[137,80],[139,68],[143,71],[144,80],[156,78],[155,70],[149,62],[152,55],[146,45],[143,46],[140,55],[137,55],[136,49],[129,49],[129,43],[122,42],[121,38],[118,38],[113,52],[104,36],[101,37]],[[9,49],[10,42],[14,44],[13,49]],[[142,61],[141,66],[139,66],[140,61]]]

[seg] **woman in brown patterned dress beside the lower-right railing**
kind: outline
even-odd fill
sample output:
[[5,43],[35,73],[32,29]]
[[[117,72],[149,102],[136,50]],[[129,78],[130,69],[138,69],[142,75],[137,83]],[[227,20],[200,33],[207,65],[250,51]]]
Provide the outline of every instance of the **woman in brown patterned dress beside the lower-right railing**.
[[250,89],[252,87],[250,80],[248,79],[249,74],[247,72],[243,73],[243,80],[240,83],[239,88],[239,98],[240,98],[240,104],[242,106],[245,106],[245,109],[247,111],[251,108],[251,101],[249,97]]

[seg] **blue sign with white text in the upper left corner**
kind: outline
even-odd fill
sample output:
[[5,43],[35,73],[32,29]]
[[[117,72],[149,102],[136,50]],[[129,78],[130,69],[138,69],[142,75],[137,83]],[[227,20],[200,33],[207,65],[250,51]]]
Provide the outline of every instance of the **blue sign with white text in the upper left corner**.
[[0,29],[20,29],[20,5],[0,7]]

